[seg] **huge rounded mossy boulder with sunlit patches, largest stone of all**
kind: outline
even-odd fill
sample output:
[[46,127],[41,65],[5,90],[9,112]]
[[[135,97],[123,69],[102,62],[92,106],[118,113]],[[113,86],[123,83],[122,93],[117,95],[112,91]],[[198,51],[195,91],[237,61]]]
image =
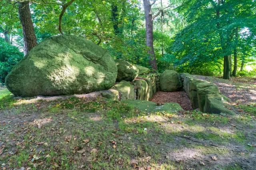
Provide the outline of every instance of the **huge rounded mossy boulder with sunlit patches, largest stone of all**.
[[59,35],[34,47],[5,83],[16,96],[54,96],[109,89],[116,76],[116,63],[105,49],[74,35]]

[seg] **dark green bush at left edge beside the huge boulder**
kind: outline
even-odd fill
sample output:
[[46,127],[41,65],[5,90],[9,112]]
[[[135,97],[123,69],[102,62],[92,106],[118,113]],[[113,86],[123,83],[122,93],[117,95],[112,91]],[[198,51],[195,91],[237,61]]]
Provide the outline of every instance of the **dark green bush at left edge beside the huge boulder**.
[[4,78],[12,67],[23,58],[23,53],[13,45],[10,45],[0,38],[0,82],[4,83]]

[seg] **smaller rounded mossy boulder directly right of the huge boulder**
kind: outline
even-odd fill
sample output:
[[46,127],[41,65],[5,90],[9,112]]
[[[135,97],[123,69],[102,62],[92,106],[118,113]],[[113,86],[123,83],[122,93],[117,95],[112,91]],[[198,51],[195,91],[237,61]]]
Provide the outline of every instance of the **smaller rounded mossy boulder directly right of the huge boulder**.
[[130,64],[122,59],[116,59],[115,62],[118,69],[116,77],[117,82],[122,80],[131,82],[138,76],[139,69],[135,65]]

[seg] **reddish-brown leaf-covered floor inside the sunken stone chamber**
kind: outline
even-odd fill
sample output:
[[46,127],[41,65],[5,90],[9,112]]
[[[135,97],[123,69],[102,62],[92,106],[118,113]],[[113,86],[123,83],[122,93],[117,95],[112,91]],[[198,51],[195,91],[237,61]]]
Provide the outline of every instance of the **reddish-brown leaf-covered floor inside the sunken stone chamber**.
[[184,110],[193,109],[191,101],[186,92],[156,92],[150,101],[158,104],[175,102],[178,103]]

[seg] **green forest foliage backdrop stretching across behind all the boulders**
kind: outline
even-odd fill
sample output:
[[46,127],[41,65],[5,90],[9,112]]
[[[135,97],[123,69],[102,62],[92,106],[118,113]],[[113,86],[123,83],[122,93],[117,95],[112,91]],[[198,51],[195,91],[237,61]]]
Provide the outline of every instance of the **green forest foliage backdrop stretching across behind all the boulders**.
[[[0,35],[6,43],[18,47],[20,51],[24,48],[24,33],[18,4],[22,2],[0,2]],[[88,39],[108,49],[114,58],[151,69],[158,68],[155,70],[158,72],[174,69],[191,74],[224,76],[227,79],[227,74],[255,74],[254,66],[251,66],[250,74],[250,70],[245,67],[246,64],[253,65],[255,60],[254,0],[146,1],[151,4],[154,49],[146,43],[149,32],[142,1],[27,2],[37,43],[59,35],[61,21],[62,33]],[[150,49],[154,50],[154,54],[150,53]],[[15,51],[13,53],[15,56]],[[155,56],[156,68],[150,63],[152,54]],[[238,74],[234,69],[238,70]]]

